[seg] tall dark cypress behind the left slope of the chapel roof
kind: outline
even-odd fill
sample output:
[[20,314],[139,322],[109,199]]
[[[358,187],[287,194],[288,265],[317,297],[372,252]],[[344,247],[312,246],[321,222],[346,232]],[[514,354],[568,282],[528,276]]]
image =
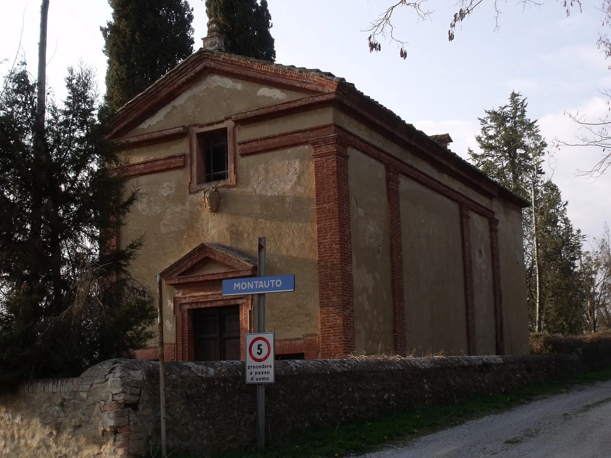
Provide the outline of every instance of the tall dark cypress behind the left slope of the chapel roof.
[[108,0],[104,36],[106,103],[130,101],[193,51],[193,9],[187,0]]

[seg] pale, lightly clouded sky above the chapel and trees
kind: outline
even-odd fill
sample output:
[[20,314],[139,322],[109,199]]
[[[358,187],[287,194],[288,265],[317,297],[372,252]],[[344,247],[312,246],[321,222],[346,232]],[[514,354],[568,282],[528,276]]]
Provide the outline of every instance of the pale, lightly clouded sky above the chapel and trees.
[[[207,17],[203,0],[189,2],[197,49]],[[454,1],[427,0],[423,7],[431,15],[425,21],[403,7],[393,23],[395,36],[407,42],[406,59],[384,38],[379,53],[370,53],[367,46],[366,29],[392,0],[268,2],[276,62],[342,76],[426,134],[449,133],[454,140],[450,148],[463,158],[467,148],[477,150],[478,117],[505,104],[511,90],[528,98],[529,117],[538,120],[549,144],[554,139],[576,142],[578,126],[566,112],[579,111],[595,121],[609,111],[601,90],[611,89],[611,60],[596,48],[599,32],[610,31],[601,26],[596,9],[600,0],[582,0],[582,12],[574,7],[569,17],[559,0],[544,0],[540,7],[499,1],[498,21],[492,0],[484,0],[458,26],[453,42],[448,42],[447,31],[456,12]],[[10,70],[18,49],[35,73],[39,15],[38,0],[2,5],[0,75]],[[57,99],[65,96],[68,66],[79,60],[95,68],[104,92],[100,26],[110,19],[106,0],[50,1],[47,76]],[[596,148],[550,147],[546,162],[547,173],[569,202],[574,227],[590,236],[598,236],[604,223],[611,223],[611,176],[593,180],[578,176],[578,171],[593,167],[601,154]]]

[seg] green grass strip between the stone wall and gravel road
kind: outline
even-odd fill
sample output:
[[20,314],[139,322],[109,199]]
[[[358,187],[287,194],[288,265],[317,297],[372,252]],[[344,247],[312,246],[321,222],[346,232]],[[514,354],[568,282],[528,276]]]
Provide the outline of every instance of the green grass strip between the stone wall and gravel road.
[[[485,393],[445,407],[418,407],[386,415],[340,421],[327,427],[312,427],[269,443],[262,452],[229,449],[214,458],[318,458],[367,453],[393,445],[405,445],[415,438],[456,426],[475,418],[526,404],[551,394],[563,393],[576,385],[611,379],[611,369],[591,371],[562,382],[530,383],[507,393]],[[521,437],[514,440],[521,442]],[[161,453],[149,452],[148,458]],[[171,458],[200,458],[175,451]]]

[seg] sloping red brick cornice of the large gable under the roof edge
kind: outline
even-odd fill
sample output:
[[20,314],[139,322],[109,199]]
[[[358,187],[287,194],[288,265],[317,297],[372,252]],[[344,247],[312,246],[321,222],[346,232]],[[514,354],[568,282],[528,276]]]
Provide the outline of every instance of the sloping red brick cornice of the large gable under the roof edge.
[[304,97],[334,92],[343,81],[320,70],[286,67],[200,49],[121,107],[112,122],[110,137],[117,139],[130,133],[211,75],[263,84],[272,97],[276,89],[293,90],[303,93]]

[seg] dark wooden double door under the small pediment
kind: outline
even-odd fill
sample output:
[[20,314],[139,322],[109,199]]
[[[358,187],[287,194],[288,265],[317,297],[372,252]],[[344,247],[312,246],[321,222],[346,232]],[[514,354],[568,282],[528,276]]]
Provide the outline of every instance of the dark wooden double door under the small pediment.
[[240,360],[240,306],[192,311],[193,356],[196,361]]

